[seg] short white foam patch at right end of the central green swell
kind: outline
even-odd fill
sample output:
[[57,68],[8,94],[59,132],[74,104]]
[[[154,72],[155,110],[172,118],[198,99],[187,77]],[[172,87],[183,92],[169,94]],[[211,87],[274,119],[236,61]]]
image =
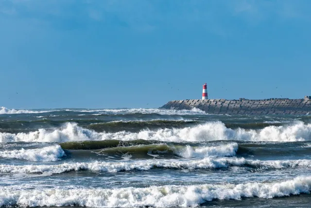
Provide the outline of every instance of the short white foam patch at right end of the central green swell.
[[213,147],[191,147],[187,145],[186,148],[177,151],[176,153],[185,158],[225,157],[235,156],[238,147],[237,143]]

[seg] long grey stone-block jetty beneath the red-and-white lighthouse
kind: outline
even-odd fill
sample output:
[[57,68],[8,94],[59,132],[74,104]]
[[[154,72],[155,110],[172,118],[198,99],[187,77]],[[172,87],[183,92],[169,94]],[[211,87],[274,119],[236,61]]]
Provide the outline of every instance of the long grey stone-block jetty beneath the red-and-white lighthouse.
[[209,114],[310,114],[311,96],[302,99],[270,98],[253,100],[240,98],[238,100],[226,99],[188,99],[173,100],[160,107],[171,110],[200,109]]

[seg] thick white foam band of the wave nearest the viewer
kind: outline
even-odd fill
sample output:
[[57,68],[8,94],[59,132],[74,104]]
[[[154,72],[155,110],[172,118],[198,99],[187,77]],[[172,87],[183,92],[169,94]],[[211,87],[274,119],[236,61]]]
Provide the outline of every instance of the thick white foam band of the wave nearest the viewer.
[[274,198],[310,193],[311,176],[271,183],[204,184],[192,186],[151,186],[122,189],[2,189],[0,206],[95,208],[194,207],[220,200],[242,197]]

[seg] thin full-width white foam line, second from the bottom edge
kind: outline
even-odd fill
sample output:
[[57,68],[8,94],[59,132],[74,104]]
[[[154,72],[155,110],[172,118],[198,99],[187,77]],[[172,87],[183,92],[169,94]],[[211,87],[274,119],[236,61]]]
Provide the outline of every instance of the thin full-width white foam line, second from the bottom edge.
[[204,158],[201,160],[139,160],[125,162],[82,162],[57,165],[0,165],[3,173],[62,173],[67,171],[91,170],[118,172],[130,170],[151,170],[153,168],[176,169],[219,169],[229,166],[255,166],[261,169],[311,168],[311,160],[246,160],[245,158]]

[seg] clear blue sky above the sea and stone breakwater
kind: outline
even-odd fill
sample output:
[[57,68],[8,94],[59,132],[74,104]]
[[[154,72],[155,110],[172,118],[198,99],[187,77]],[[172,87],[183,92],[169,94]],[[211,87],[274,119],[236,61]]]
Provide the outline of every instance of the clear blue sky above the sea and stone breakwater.
[[[0,0],[0,106],[311,95],[310,0]],[[170,84],[169,84],[170,83]],[[148,104],[148,105],[147,105]]]

